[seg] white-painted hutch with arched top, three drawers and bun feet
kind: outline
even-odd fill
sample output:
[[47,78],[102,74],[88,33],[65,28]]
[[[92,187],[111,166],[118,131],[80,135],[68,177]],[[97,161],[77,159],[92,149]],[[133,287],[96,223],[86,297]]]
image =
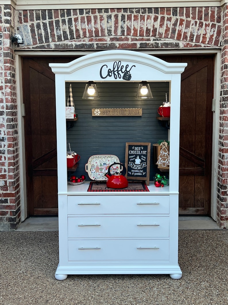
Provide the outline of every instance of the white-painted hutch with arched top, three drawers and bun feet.
[[[129,81],[115,78],[113,63],[134,66],[133,82],[170,82],[169,185],[150,192],[87,192],[89,182],[67,185],[66,82]],[[102,78],[101,67],[109,70]],[[180,84],[185,63],[167,63],[134,51],[95,52],[71,63],[52,63],[55,74],[58,162],[59,265],[68,274],[170,274],[178,265],[178,181]],[[120,74],[122,72],[120,71]],[[152,101],[153,102],[153,101]]]

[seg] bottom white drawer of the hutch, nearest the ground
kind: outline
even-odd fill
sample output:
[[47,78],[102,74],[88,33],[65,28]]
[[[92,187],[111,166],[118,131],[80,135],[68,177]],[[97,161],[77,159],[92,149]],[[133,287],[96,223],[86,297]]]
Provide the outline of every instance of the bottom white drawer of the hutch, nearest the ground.
[[169,260],[168,240],[69,240],[68,260]]

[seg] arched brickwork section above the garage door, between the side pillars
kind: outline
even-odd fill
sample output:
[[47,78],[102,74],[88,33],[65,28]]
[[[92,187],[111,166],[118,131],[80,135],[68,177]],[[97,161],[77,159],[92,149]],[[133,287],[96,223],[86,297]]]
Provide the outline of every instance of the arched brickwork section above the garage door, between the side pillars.
[[145,49],[218,47],[221,8],[22,10],[21,48]]

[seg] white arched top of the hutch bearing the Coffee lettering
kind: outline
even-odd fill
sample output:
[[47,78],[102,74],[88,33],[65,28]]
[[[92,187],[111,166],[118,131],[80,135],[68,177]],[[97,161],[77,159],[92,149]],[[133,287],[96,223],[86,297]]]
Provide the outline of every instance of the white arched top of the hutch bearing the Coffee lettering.
[[[169,81],[181,74],[187,64],[167,63],[142,52],[127,50],[100,51],[70,63],[51,63],[52,71],[65,81]],[[124,76],[125,72],[130,77]]]

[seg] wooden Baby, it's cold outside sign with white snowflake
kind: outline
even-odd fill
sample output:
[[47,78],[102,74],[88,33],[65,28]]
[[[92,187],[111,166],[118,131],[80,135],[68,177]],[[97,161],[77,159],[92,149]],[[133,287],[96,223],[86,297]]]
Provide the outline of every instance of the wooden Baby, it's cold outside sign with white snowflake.
[[141,116],[142,108],[95,108],[92,117]]

